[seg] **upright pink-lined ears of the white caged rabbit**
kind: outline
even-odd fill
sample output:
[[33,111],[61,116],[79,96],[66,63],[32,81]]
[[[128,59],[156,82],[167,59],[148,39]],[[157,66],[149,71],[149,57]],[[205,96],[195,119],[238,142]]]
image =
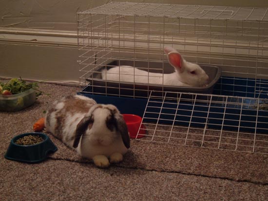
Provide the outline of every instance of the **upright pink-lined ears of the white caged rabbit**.
[[179,72],[182,73],[184,71],[182,62],[182,56],[172,47],[165,47],[165,53],[168,55],[168,59],[170,64]]

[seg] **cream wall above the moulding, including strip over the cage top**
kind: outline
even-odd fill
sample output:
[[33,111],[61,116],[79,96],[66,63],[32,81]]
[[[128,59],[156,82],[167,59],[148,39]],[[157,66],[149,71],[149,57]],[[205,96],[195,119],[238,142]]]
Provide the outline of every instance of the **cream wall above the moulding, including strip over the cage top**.
[[[90,9],[109,1],[111,0],[1,0],[0,26],[76,30],[77,11]],[[267,0],[128,0],[128,2],[268,7]]]

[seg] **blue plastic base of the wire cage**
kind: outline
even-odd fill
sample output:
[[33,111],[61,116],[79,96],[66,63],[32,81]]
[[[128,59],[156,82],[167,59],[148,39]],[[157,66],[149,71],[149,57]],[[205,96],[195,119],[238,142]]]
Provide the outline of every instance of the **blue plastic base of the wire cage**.
[[[228,77],[222,77],[215,86],[214,94],[211,95],[168,92],[171,98],[166,100],[163,99],[164,96],[158,96],[163,92],[154,91],[152,93],[156,95],[149,99],[96,95],[90,92],[90,85],[78,94],[93,98],[97,103],[113,104],[121,113],[139,115],[146,122],[268,134],[268,105],[265,105],[264,100],[256,98],[256,96],[266,98],[267,95],[254,93],[252,89],[256,89],[255,83],[244,78],[239,79],[240,90],[249,93],[237,92],[239,95],[244,95],[243,97],[236,96],[235,92],[231,92],[231,96],[223,94],[223,91],[228,91],[228,86],[232,86],[227,81],[231,80]],[[258,91],[264,92],[267,89],[268,86],[263,84],[258,87]],[[218,95],[219,92],[221,95]],[[179,104],[178,96],[181,96]],[[193,102],[194,99],[196,99],[195,102]],[[163,107],[165,105],[166,107]],[[162,109],[159,110],[159,108]]]

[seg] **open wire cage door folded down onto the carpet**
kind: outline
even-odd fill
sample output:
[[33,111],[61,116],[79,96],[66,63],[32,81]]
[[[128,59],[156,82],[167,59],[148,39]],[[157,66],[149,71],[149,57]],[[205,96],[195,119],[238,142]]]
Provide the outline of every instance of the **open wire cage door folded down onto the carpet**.
[[179,92],[159,96],[151,91],[139,130],[146,134],[137,139],[268,154],[267,112],[256,101]]

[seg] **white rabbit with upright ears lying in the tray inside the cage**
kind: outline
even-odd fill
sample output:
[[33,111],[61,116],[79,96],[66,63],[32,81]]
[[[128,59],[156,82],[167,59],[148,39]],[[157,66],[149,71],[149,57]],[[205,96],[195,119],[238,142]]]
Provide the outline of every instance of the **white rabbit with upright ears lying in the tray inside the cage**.
[[147,71],[142,71],[132,66],[117,66],[109,70],[102,70],[102,79],[120,82],[191,87],[204,87],[208,84],[209,76],[198,64],[187,62],[172,47],[165,47],[164,51],[168,55],[170,64],[175,69],[174,73],[148,73]]

